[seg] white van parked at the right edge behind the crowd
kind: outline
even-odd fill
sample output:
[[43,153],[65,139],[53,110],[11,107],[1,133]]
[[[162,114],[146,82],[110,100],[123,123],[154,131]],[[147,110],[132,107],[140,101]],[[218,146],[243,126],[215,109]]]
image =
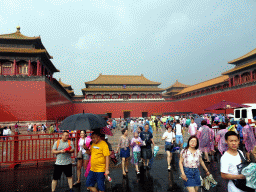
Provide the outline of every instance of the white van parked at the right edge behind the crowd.
[[234,121],[243,118],[246,123],[255,123],[253,117],[256,116],[256,103],[243,103],[243,105],[249,105],[250,107],[234,109]]

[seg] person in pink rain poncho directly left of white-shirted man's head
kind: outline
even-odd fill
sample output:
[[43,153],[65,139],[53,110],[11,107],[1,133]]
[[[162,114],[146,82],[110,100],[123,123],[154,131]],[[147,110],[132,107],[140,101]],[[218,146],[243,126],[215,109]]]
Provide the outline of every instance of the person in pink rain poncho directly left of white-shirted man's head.
[[228,149],[228,145],[225,140],[225,134],[228,132],[225,125],[220,124],[219,125],[220,130],[216,134],[216,143],[218,143],[218,150],[223,155],[225,151]]

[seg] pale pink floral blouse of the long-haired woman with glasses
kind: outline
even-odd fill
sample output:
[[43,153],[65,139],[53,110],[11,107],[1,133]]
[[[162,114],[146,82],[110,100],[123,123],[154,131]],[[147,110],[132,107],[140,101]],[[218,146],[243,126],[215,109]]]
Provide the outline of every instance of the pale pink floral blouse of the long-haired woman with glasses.
[[200,165],[200,157],[202,152],[197,149],[194,154],[192,154],[188,149],[182,149],[181,153],[183,161],[183,166],[188,168],[198,168]]

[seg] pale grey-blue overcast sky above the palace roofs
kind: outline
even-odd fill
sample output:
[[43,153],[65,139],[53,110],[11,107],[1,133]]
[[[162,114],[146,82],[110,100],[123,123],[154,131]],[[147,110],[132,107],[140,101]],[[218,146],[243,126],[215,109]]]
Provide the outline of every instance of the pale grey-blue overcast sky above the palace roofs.
[[2,0],[0,34],[41,36],[80,95],[99,73],[193,85],[256,48],[255,0]]

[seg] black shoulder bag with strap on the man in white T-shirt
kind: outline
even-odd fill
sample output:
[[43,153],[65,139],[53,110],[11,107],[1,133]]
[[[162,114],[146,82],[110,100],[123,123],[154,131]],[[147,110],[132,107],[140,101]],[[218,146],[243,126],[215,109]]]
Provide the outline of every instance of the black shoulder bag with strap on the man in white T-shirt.
[[[237,170],[238,170],[238,174],[241,174],[243,168],[247,167],[250,163],[248,163],[246,161],[246,159],[244,158],[244,156],[241,154],[240,151],[237,151],[241,160],[242,160],[242,163],[240,163],[239,165],[237,165]],[[232,180],[234,185],[238,188],[238,189],[241,189],[243,191],[247,191],[247,192],[254,192],[255,190],[250,188],[250,187],[247,187],[246,186],[246,179],[235,179],[235,180]]]

